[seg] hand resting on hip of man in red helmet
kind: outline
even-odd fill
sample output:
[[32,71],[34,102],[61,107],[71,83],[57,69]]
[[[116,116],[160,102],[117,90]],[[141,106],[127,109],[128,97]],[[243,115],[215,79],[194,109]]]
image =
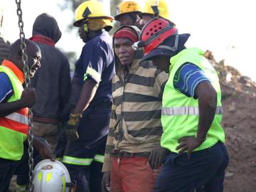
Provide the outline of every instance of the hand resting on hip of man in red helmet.
[[179,145],[176,147],[176,150],[179,150],[178,154],[187,151],[188,159],[190,159],[193,149],[196,149],[203,142],[204,140],[199,139],[198,137],[182,137],[181,139],[178,139]]

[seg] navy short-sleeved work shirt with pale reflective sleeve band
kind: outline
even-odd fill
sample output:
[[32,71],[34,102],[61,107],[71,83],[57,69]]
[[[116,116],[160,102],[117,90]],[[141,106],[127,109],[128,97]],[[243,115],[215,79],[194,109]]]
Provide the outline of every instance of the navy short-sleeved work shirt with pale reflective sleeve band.
[[[82,85],[88,79],[99,83],[97,92],[89,108],[112,102],[112,78],[114,76],[114,53],[112,38],[103,31],[99,36],[92,38],[82,48],[80,58],[75,63],[72,95],[78,102]],[[71,96],[72,97],[72,96]],[[71,98],[74,103],[74,98]]]

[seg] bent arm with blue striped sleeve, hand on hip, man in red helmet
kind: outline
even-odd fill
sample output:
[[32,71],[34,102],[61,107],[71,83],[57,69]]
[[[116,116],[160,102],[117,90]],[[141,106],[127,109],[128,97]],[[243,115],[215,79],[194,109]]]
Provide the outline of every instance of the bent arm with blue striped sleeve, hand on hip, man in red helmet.
[[176,147],[180,154],[187,151],[188,158],[190,158],[193,149],[206,140],[207,132],[215,115],[217,93],[203,70],[192,63],[185,63],[178,68],[174,76],[174,87],[187,97],[198,99],[197,134],[194,137],[182,137],[178,140],[179,145]]

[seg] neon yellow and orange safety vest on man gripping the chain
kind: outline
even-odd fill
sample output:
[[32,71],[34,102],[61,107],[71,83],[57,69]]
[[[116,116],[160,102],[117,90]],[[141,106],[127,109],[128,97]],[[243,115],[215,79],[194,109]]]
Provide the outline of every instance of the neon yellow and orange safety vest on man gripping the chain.
[[[14,72],[0,65],[0,73],[6,73],[13,87],[13,94],[7,102],[21,99],[22,83]],[[23,142],[28,134],[28,108],[0,117],[0,158],[18,161],[23,155]]]

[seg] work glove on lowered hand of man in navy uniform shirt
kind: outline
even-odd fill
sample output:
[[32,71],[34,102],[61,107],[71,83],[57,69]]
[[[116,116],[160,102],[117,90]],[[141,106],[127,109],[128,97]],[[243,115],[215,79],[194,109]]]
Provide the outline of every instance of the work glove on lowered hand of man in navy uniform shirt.
[[79,139],[78,124],[80,117],[80,114],[70,114],[70,119],[65,127],[65,134],[69,142],[75,142]]

